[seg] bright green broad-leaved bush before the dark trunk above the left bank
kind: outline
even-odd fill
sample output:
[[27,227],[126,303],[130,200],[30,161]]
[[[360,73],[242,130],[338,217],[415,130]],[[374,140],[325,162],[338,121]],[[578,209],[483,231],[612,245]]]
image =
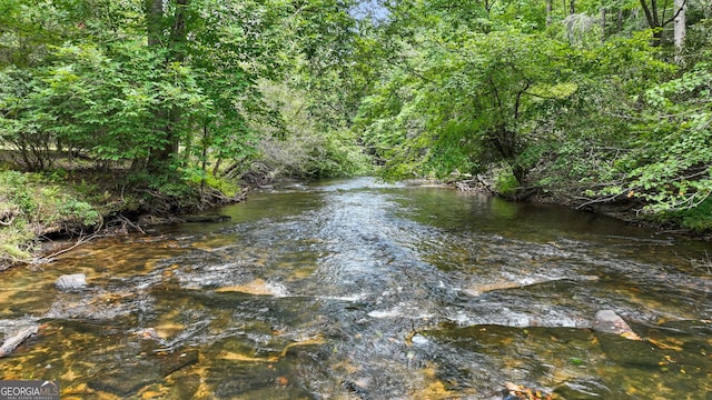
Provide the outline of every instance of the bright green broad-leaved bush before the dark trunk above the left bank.
[[[90,151],[101,162],[146,158],[162,141],[155,134],[160,123],[154,118],[156,110],[200,111],[195,106],[202,97],[185,68],[161,70],[165,80],[179,83],[156,83],[151,73],[137,72],[146,70],[116,61],[126,57],[136,67],[151,69],[156,57],[138,43],[125,42],[113,50],[110,59],[93,46],[58,48],[52,66],[12,82],[29,90],[4,99],[0,133],[21,152],[29,169],[49,167],[55,148]],[[17,76],[9,72],[4,81]]]

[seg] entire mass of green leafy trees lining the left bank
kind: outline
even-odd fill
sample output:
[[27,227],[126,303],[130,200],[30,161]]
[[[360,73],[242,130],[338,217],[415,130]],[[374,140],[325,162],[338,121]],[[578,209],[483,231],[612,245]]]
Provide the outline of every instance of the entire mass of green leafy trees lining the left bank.
[[[309,93],[315,133],[334,132],[309,149],[305,173],[363,170],[360,150],[343,133],[359,96],[344,89],[364,83],[346,67],[356,38],[353,2],[155,3],[3,3],[10,33],[0,38],[8,43],[0,46],[0,142],[24,168],[46,170],[60,158],[78,166],[72,154],[81,153],[96,167],[130,166],[136,183],[182,193],[180,183],[142,176],[210,164],[218,174],[217,166],[256,158],[265,133],[287,132],[257,82],[288,74],[293,88]],[[38,29],[40,19],[48,23]],[[26,40],[36,58],[20,62],[23,49],[10,46],[11,34],[28,31],[46,39]]]

